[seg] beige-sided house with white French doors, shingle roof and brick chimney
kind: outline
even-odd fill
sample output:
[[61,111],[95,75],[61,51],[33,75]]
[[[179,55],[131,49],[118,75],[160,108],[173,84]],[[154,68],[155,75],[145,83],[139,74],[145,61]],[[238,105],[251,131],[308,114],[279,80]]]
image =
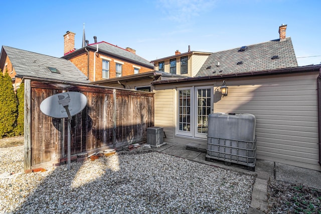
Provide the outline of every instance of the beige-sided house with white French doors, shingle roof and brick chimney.
[[152,82],[155,126],[164,127],[165,141],[205,149],[210,113],[249,113],[258,159],[321,171],[321,65],[297,66],[284,27],[277,40],[213,53],[197,77]]

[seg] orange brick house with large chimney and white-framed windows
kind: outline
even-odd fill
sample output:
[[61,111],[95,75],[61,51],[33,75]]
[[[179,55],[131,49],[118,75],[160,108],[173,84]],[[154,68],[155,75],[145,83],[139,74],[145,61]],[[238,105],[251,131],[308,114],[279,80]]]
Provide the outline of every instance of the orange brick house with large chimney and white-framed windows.
[[[140,74],[153,70],[153,64],[136,55],[131,48],[120,48],[107,42],[83,45],[75,49],[75,33],[64,35],[63,59],[72,62],[90,81]],[[84,41],[83,41],[84,44]]]

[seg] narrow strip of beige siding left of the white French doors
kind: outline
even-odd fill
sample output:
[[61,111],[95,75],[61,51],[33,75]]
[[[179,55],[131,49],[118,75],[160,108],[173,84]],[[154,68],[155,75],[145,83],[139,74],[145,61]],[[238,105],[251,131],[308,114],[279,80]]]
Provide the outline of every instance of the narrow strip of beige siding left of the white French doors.
[[164,141],[174,142],[174,89],[153,92],[155,93],[155,126],[163,127],[166,134]]

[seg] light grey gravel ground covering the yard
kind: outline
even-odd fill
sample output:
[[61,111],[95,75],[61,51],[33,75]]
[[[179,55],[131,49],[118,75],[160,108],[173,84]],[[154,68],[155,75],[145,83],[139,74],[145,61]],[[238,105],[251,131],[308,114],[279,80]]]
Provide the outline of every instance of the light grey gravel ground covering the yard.
[[[23,146],[0,148],[0,175],[23,168]],[[255,178],[149,152],[0,179],[1,213],[246,213]]]

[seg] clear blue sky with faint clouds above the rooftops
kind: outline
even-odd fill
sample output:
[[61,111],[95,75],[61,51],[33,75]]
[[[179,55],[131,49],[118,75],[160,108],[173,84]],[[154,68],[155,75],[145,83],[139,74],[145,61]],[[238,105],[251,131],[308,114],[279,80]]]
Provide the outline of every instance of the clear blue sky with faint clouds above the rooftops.
[[[0,45],[62,57],[63,35],[130,47],[151,61],[176,50],[217,52],[278,39],[287,25],[299,66],[321,64],[319,0],[6,1]],[[317,57],[314,57],[317,56]]]

